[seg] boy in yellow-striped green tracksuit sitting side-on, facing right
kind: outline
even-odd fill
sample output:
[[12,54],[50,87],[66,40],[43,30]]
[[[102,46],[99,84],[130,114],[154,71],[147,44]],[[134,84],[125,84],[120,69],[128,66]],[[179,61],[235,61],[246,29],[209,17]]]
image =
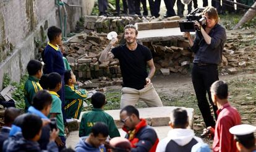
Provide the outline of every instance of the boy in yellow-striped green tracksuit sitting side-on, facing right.
[[75,90],[75,75],[71,70],[67,70],[64,74],[65,82],[65,114],[67,118],[79,119],[82,111],[83,100],[87,98],[86,90]]

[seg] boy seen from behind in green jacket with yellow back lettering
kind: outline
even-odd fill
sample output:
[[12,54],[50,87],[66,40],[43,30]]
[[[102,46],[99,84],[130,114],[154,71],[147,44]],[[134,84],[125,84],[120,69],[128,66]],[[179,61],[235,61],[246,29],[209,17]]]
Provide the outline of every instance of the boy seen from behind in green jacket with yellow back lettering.
[[113,117],[103,111],[103,107],[106,103],[105,95],[103,93],[96,92],[92,95],[91,100],[93,109],[92,111],[88,111],[83,114],[80,122],[79,137],[88,136],[96,122],[104,122],[108,125],[110,138],[120,137],[116,124],[114,124]]

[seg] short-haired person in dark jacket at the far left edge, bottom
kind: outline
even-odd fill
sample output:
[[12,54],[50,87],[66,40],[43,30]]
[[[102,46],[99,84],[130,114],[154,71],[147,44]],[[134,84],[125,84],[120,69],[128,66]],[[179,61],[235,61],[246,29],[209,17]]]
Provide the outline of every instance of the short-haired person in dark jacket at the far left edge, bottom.
[[13,107],[7,108],[6,111],[4,111],[4,126],[2,127],[0,132],[0,150],[2,150],[2,144],[4,143],[4,141],[9,137],[9,133],[14,119],[19,115],[20,109],[16,109]]

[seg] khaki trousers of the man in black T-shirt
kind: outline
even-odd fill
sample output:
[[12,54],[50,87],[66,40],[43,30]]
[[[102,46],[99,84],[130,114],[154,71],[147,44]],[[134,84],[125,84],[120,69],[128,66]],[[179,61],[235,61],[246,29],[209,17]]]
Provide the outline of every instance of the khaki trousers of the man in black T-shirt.
[[121,90],[121,104],[120,108],[124,108],[127,105],[135,106],[139,99],[142,99],[149,107],[161,107],[163,103],[156,93],[153,84],[150,83],[147,87],[136,90],[134,88],[124,87]]

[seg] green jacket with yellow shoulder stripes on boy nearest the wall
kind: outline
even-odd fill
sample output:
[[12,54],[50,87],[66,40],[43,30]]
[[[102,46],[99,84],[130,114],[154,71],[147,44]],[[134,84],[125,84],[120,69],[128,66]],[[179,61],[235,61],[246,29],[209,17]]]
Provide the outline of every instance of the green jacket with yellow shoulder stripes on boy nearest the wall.
[[25,97],[25,111],[30,107],[32,103],[33,96],[39,90],[43,90],[39,83],[39,79],[33,77],[32,75],[28,76],[28,80],[25,83],[24,87],[24,97]]

